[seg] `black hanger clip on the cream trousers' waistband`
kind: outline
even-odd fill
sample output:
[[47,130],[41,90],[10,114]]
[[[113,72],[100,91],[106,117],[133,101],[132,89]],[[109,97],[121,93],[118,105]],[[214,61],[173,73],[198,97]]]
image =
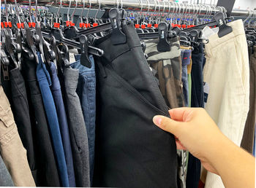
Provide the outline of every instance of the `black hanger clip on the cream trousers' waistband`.
[[230,34],[233,31],[233,29],[230,26],[227,26],[223,12],[218,12],[216,15],[214,15],[214,20],[216,20],[219,26],[219,38],[227,34]]

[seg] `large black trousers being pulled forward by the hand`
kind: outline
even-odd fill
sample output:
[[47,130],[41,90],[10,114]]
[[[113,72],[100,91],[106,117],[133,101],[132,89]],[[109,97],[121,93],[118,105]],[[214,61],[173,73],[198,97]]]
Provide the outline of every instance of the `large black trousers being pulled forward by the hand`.
[[94,187],[177,187],[175,138],[152,122],[167,106],[132,23],[126,44],[110,36],[96,47],[97,124]]

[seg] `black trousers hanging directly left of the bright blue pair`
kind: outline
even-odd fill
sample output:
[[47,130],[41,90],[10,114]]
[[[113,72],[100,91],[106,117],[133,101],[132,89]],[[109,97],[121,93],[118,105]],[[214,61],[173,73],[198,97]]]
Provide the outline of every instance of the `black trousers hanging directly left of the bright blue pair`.
[[23,77],[28,93],[31,126],[34,128],[34,144],[37,149],[37,186],[60,187],[59,175],[53,154],[53,147],[42,103],[42,95],[37,82],[37,63],[23,60]]

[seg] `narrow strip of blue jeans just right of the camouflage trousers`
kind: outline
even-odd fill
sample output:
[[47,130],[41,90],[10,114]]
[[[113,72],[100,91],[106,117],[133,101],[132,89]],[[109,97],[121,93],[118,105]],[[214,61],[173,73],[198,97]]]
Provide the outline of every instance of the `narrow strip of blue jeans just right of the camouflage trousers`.
[[183,95],[185,106],[189,106],[189,82],[187,75],[187,66],[190,63],[191,50],[181,50],[181,60],[182,60],[182,74],[181,80],[183,83]]

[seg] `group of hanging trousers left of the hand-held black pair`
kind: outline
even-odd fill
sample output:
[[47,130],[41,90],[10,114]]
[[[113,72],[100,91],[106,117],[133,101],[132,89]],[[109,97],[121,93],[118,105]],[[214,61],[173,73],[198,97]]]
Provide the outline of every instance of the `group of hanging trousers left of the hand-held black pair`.
[[90,187],[94,66],[86,70],[78,60],[58,77],[56,65],[46,67],[37,55],[39,64],[23,55],[21,71],[1,74],[1,157],[15,186]]

